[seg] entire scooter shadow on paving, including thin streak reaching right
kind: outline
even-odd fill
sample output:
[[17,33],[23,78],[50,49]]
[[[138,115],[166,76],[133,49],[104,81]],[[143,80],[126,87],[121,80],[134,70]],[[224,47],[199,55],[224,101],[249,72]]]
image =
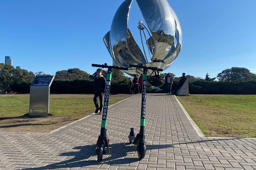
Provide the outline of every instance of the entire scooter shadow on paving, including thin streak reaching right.
[[[198,140],[198,141],[191,141],[191,142],[178,142],[174,144],[162,144],[162,145],[146,145],[147,150],[149,153],[149,150],[154,149],[163,149],[163,148],[172,148],[174,145],[182,145],[182,144],[191,144],[191,143],[202,143],[202,142],[212,142],[212,141],[224,141],[224,140],[236,140],[239,138],[218,138],[218,139],[210,139],[210,140]],[[129,143],[115,143],[110,145],[110,151],[112,152],[112,155],[108,157],[108,151],[105,155],[103,155],[103,162],[99,163],[97,160],[97,155],[95,153],[96,145],[86,145],[86,146],[77,146],[73,149],[78,149],[79,151],[75,152],[65,152],[61,153],[59,156],[63,157],[65,159],[66,157],[73,157],[68,160],[64,160],[58,163],[49,164],[47,166],[41,166],[41,167],[34,167],[34,168],[26,168],[22,170],[34,170],[34,169],[40,169],[40,170],[46,170],[46,169],[61,169],[61,168],[76,168],[76,167],[86,167],[86,166],[95,166],[94,168],[99,168],[103,164],[107,165],[122,165],[122,164],[130,164],[139,162],[139,158],[137,156],[135,145],[130,145]],[[135,154],[132,156],[132,158],[124,158],[127,156],[127,154]],[[92,158],[92,156],[94,156]],[[87,168],[87,167],[86,167]],[[92,167],[88,167],[92,168]]]

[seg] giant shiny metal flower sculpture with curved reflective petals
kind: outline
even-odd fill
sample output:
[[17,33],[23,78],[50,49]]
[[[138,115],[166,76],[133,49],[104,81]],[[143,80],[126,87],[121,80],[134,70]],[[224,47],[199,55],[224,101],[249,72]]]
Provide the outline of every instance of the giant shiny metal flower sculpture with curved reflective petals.
[[[114,63],[120,67],[128,67],[125,73],[133,76],[143,73],[142,69],[129,67],[129,64],[143,64],[147,67],[167,69],[177,58],[182,45],[182,32],[178,18],[167,0],[137,0],[140,11],[150,30],[146,29],[150,38],[146,39],[149,61],[145,53],[140,50],[127,28],[130,5],[133,0],[125,0],[114,15],[111,29],[104,36],[103,41],[113,58]],[[145,32],[143,22],[139,22],[140,33]],[[142,34],[140,34],[142,38]],[[143,45],[143,44],[142,44]],[[146,50],[146,51],[147,51]],[[148,70],[148,80],[153,86],[161,86],[164,81],[159,74]]]

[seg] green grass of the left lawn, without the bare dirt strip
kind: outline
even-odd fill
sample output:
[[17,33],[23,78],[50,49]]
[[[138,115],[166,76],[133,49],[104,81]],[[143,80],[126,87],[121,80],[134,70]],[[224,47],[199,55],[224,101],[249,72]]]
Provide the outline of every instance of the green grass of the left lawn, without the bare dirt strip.
[[[108,106],[127,95],[111,95]],[[84,117],[95,111],[93,95],[50,95],[50,114],[53,116]],[[28,113],[29,95],[0,95],[0,117],[18,117]]]

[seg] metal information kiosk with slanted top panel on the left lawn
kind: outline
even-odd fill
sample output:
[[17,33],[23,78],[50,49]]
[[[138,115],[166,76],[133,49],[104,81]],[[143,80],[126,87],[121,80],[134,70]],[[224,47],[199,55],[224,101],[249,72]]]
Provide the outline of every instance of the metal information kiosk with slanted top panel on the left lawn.
[[29,115],[46,116],[49,114],[50,85],[54,76],[36,76],[30,86]]

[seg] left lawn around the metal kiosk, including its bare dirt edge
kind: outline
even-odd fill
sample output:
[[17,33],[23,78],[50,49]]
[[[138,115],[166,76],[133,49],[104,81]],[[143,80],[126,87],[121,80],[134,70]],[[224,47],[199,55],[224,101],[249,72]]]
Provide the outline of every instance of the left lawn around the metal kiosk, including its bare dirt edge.
[[[109,106],[131,96],[110,95]],[[0,132],[49,133],[94,113],[92,98],[93,95],[50,95],[51,115],[31,117],[29,95],[0,95]]]

